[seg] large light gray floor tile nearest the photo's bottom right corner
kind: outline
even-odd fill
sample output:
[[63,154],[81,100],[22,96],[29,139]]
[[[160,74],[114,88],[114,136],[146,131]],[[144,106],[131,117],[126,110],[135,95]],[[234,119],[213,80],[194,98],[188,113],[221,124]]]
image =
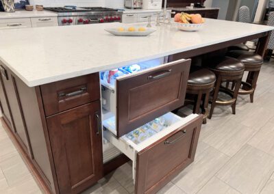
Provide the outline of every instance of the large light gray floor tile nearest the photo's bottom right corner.
[[244,146],[216,176],[240,193],[260,193],[274,171],[274,158]]

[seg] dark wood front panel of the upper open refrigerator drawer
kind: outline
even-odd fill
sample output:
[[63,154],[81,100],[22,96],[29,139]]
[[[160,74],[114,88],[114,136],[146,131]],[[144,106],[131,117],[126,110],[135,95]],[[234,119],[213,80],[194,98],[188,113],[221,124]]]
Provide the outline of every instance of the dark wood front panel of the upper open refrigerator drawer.
[[184,105],[190,59],[116,80],[117,136]]

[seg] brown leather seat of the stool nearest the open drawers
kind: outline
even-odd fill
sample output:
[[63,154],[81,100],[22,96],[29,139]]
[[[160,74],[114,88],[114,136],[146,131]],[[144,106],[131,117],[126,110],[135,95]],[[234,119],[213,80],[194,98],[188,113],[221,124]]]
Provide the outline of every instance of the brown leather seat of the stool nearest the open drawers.
[[214,72],[199,66],[190,67],[188,85],[210,85],[215,81],[216,77]]

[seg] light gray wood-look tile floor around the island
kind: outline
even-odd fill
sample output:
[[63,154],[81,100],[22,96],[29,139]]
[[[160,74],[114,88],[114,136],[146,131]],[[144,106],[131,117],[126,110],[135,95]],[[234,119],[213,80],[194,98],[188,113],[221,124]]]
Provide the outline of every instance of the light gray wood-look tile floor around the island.
[[[159,193],[274,193],[274,61],[264,64],[255,102],[240,96],[236,115],[214,110],[202,126],[194,163]],[[0,127],[0,193],[42,193]],[[89,193],[134,193],[131,163],[116,169]]]

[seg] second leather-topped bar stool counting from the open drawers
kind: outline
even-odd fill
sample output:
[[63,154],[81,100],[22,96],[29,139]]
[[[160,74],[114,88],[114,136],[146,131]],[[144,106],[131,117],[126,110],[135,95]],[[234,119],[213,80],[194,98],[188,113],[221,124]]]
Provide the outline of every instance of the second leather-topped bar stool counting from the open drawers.
[[[232,57],[215,57],[206,61],[206,66],[208,66],[208,68],[210,68],[210,70],[212,70],[216,75],[212,105],[208,118],[211,119],[216,105],[232,105],[232,113],[235,114],[238,91],[240,89],[242,74],[245,70],[244,64]],[[234,82],[234,90],[228,89],[228,87],[222,87],[221,83],[223,82]],[[217,100],[219,92],[228,94],[232,99],[225,101]]]

